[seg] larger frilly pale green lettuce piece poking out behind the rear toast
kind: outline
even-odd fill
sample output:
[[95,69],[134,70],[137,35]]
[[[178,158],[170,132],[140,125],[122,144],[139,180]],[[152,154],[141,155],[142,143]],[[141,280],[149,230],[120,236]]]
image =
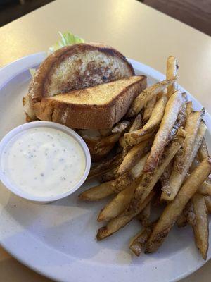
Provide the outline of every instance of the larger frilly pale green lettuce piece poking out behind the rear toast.
[[70,31],[66,31],[63,33],[58,32],[58,34],[60,35],[61,39],[49,48],[48,55],[60,49],[61,47],[77,43],[84,43],[84,39],[78,37],[77,35],[73,35]]

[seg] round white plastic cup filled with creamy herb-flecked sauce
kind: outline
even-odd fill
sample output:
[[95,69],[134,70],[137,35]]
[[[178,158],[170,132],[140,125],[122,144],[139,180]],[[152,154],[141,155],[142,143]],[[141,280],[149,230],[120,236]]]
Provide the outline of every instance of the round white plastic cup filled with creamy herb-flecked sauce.
[[0,142],[1,182],[33,202],[53,202],[72,194],[86,180],[90,165],[82,137],[58,123],[25,123]]

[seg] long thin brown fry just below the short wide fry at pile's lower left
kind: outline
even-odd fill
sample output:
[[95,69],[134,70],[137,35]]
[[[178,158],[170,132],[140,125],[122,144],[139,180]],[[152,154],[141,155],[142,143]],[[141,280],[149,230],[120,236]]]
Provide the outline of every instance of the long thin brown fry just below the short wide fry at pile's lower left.
[[124,227],[129,221],[131,221],[137,214],[139,214],[148,204],[151,202],[155,195],[155,191],[151,191],[150,195],[139,205],[139,210],[134,213],[128,213],[127,209],[124,210],[121,214],[116,216],[114,219],[111,219],[107,226],[103,226],[98,230],[96,235],[97,240],[103,240],[104,238],[112,235],[113,233],[120,230],[120,228]]

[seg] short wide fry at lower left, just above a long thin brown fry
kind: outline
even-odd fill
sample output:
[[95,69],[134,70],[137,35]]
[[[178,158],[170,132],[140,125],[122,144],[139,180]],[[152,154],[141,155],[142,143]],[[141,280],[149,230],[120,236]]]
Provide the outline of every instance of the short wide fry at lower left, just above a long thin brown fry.
[[123,212],[131,201],[136,186],[137,180],[134,180],[129,187],[119,192],[113,200],[108,202],[98,215],[98,221],[110,221]]

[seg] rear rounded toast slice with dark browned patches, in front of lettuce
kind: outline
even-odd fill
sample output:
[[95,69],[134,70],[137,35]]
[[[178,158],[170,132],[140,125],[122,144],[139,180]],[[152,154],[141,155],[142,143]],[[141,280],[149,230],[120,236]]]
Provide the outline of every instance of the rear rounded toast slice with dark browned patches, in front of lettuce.
[[36,118],[34,103],[43,97],[128,78],[134,69],[127,59],[103,44],[75,44],[58,49],[39,66],[23,98],[29,119]]

